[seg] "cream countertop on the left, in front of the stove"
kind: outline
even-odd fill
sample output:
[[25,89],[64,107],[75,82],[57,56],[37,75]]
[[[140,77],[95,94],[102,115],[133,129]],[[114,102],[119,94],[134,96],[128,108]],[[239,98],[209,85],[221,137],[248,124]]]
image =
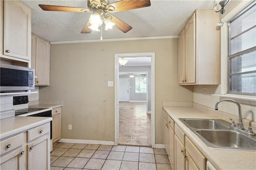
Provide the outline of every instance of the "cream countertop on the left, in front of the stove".
[[13,116],[0,120],[0,139],[24,132],[52,121],[51,117],[19,117]]

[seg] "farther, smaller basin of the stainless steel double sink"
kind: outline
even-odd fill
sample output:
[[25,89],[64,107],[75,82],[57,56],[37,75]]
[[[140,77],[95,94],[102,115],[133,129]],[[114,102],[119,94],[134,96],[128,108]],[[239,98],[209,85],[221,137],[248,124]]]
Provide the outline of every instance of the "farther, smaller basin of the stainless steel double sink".
[[183,119],[180,120],[189,128],[194,129],[230,129],[230,123],[221,119]]

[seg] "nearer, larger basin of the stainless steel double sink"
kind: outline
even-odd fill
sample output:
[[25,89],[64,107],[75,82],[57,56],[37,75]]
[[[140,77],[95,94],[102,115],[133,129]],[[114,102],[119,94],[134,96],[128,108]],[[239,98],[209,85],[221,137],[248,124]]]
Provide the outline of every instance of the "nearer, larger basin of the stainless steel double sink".
[[233,130],[196,130],[206,145],[228,150],[256,150],[256,139]]

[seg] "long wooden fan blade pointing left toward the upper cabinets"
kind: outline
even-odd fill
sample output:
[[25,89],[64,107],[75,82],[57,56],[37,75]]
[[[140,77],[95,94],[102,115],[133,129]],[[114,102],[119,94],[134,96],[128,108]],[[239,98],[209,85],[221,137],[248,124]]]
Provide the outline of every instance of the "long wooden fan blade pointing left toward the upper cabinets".
[[62,11],[62,12],[91,12],[86,8],[76,8],[69,6],[39,5],[44,11]]

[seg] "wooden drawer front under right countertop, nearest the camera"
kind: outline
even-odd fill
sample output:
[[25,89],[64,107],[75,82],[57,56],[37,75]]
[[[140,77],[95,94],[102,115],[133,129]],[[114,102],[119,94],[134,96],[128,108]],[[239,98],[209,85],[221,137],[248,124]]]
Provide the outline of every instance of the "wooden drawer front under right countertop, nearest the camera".
[[186,152],[188,152],[200,170],[206,169],[206,158],[186,136]]

